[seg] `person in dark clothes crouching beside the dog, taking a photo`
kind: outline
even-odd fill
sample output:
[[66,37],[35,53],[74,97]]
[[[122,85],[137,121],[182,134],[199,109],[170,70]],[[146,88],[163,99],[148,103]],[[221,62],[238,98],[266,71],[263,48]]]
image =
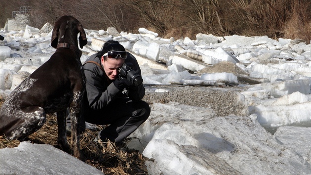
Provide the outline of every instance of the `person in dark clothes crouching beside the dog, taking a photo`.
[[[120,146],[147,120],[151,111],[148,103],[142,101],[145,88],[137,60],[117,41],[110,40],[84,62],[83,70],[86,77],[83,118],[91,124],[109,125],[99,131],[95,141],[110,140]],[[132,79],[122,77],[127,73]]]

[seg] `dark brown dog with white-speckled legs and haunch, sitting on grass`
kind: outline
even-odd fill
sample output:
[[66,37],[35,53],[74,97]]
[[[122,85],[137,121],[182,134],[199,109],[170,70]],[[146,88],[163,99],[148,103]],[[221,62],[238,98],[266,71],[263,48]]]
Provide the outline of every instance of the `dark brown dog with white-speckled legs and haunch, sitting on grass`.
[[87,44],[81,23],[73,16],[62,16],[54,25],[51,46],[55,53],[34,73],[16,87],[0,111],[0,134],[7,139],[23,140],[38,131],[46,114],[57,114],[58,138],[62,149],[71,153],[66,137],[66,109],[70,107],[72,122],[71,145],[79,157],[79,120],[85,76],[80,61]]

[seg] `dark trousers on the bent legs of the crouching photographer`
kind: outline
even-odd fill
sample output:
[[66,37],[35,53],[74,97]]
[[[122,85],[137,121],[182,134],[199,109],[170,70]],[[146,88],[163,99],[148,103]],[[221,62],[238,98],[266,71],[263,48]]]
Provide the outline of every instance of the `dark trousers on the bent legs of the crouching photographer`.
[[134,102],[129,98],[117,98],[100,110],[84,113],[85,122],[95,125],[109,125],[98,133],[101,140],[123,142],[124,139],[143,124],[150,115],[145,101]]

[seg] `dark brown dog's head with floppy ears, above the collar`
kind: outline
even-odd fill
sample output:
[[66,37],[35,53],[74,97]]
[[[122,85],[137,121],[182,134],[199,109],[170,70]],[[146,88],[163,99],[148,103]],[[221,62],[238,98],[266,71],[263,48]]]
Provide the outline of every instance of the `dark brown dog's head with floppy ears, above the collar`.
[[80,47],[87,44],[86,34],[82,24],[73,16],[62,16],[54,25],[51,39],[51,46],[56,48],[58,43],[77,44],[78,33]]

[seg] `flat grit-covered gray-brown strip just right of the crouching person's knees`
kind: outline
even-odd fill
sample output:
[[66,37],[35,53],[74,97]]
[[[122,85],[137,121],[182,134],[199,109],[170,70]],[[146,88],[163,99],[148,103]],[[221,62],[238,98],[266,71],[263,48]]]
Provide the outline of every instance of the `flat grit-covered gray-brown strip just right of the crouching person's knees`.
[[237,87],[146,87],[164,88],[168,92],[146,92],[143,100],[149,103],[167,103],[175,101],[181,104],[211,108],[217,116],[245,116],[248,115],[248,107],[244,103],[243,96]]

